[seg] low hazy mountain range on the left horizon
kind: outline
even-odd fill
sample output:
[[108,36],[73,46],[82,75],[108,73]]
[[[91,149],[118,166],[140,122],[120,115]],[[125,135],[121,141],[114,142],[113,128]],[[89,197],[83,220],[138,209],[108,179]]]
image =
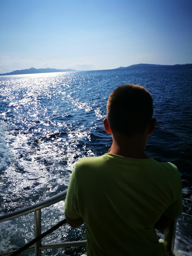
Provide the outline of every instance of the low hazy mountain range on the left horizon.
[[10,73],[5,73],[5,74],[0,74],[0,76],[7,76],[7,75],[21,75],[21,74],[38,74],[38,73],[51,73],[51,72],[68,72],[68,71],[75,71],[75,70],[58,70],[55,68],[39,68],[36,69],[34,67],[31,67],[29,69],[26,70],[15,70],[13,72]]

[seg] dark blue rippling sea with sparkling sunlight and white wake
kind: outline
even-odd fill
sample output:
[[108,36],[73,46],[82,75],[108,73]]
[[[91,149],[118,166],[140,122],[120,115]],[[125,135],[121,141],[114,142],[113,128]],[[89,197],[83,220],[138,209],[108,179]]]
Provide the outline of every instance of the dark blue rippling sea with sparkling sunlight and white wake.
[[[181,173],[183,213],[177,219],[175,249],[191,256],[192,65],[0,76],[0,214],[63,192],[78,159],[108,151],[112,137],[103,128],[107,99],[127,83],[143,86],[154,99],[157,125],[146,153],[174,163]],[[0,223],[0,253],[33,239],[33,218],[30,213]],[[63,218],[63,201],[43,209],[42,231]],[[42,243],[81,239],[83,226],[64,225]],[[78,256],[84,251],[47,249],[42,255]]]

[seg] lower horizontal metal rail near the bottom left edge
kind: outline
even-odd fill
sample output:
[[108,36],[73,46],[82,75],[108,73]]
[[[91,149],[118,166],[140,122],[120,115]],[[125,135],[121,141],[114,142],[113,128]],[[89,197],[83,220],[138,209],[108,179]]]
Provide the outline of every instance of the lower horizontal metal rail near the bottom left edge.
[[[39,248],[44,250],[44,249],[53,249],[53,248],[62,248],[62,247],[73,247],[73,246],[86,246],[87,245],[87,240],[80,240],[80,241],[72,241],[72,242],[64,242],[64,243],[55,243],[55,244],[45,244],[41,245]],[[35,249],[35,246],[31,246],[25,250],[25,252],[32,251]],[[15,251],[11,252],[6,252],[3,254],[0,254],[0,256],[9,256]]]

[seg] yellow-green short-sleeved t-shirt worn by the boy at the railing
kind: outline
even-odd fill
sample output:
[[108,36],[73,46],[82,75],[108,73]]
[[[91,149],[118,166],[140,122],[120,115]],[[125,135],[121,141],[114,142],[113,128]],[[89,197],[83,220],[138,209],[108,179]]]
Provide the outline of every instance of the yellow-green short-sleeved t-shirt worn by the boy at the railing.
[[174,164],[109,153],[76,163],[65,200],[66,215],[85,222],[87,256],[164,256],[154,224],[181,211]]

